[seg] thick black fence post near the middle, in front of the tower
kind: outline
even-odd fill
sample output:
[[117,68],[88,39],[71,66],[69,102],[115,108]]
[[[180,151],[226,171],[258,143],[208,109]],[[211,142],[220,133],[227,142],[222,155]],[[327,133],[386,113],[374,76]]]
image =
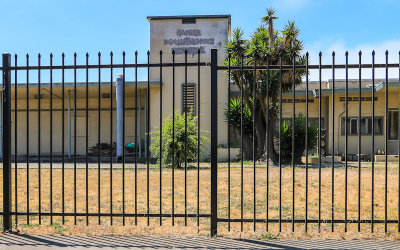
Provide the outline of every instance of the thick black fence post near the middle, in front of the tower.
[[218,144],[218,88],[217,50],[211,50],[211,236],[217,235],[217,144]]

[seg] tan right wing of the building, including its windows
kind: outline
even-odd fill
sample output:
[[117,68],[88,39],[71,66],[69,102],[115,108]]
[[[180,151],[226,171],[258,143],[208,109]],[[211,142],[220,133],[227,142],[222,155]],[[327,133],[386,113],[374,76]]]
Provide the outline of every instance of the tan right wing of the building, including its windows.
[[[389,79],[388,86],[385,79],[375,79],[375,86],[371,79],[364,79],[361,85],[358,79],[348,80],[348,123],[347,123],[347,154],[356,159],[358,154],[359,130],[359,87],[361,87],[361,154],[372,154],[372,88],[375,88],[375,143],[374,153],[385,150],[385,128],[388,123],[388,150],[389,155],[398,155],[398,122],[399,122],[399,82],[398,79]],[[332,96],[333,81],[324,81],[319,91],[319,82],[309,82],[308,93],[305,83],[296,87],[295,112],[305,114],[306,98],[309,100],[310,123],[318,125],[319,103],[321,102],[322,128],[326,129],[326,154],[345,155],[345,118],[346,118],[346,81],[335,79],[335,98]],[[385,88],[388,87],[388,116],[385,114]],[[292,118],[293,93],[286,93],[283,101],[283,118]],[[332,106],[335,112],[332,113]],[[334,147],[332,140],[334,139]],[[351,158],[350,158],[351,159]]]

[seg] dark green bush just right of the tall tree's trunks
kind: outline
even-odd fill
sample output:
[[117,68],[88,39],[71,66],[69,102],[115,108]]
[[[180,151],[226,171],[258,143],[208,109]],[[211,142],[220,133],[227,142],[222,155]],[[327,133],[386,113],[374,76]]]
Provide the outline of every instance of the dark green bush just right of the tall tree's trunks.
[[[294,123],[294,141],[295,141],[295,152],[294,161],[295,163],[301,162],[301,156],[306,149],[306,117],[300,113],[295,116]],[[276,133],[277,142],[278,132]],[[292,120],[285,121],[281,127],[281,138],[282,138],[282,162],[288,163],[292,160]],[[308,126],[308,150],[315,149],[318,143],[318,127],[315,125]],[[277,145],[279,147],[279,143]]]

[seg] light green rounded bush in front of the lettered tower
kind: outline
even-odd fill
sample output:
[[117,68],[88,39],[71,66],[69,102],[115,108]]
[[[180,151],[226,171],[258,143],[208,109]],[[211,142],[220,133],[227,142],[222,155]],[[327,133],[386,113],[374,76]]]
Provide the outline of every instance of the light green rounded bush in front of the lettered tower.
[[[175,132],[174,141],[172,140],[172,114],[163,120],[162,123],[162,164],[165,166],[183,167],[185,162],[185,141],[187,139],[187,161],[194,162],[197,159],[197,116],[192,112],[187,114],[187,136],[185,135],[185,114],[175,112]],[[200,157],[203,155],[210,140],[204,136],[208,133],[206,130],[200,130]],[[150,133],[152,137],[152,144],[150,151],[160,163],[160,127],[155,127]],[[175,155],[174,164],[173,153]]]

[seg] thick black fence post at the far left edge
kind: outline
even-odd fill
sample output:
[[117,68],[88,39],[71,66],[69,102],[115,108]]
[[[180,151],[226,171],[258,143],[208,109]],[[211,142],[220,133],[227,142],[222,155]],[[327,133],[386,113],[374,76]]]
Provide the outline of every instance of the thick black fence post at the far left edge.
[[11,55],[3,54],[3,230],[11,230]]

